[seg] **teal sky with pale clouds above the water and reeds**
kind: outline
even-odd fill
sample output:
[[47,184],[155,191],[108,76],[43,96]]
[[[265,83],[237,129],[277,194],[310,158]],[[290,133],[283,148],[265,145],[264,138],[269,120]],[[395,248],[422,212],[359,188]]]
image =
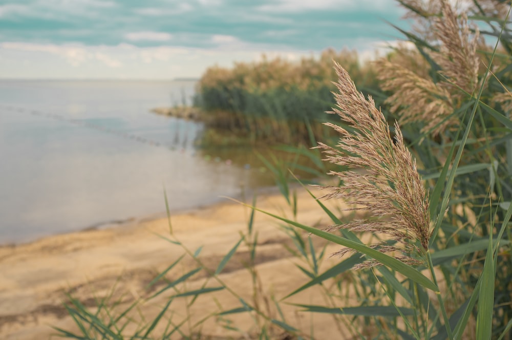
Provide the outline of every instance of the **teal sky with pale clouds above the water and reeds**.
[[393,0],[0,0],[0,78],[174,79],[400,34]]

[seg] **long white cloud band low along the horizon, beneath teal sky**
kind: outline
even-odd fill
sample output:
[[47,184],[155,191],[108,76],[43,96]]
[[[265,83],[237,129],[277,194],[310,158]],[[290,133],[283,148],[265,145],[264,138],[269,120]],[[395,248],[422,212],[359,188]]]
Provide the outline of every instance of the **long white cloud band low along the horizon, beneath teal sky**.
[[[216,38],[233,41],[232,38]],[[237,40],[238,41],[238,40]],[[25,79],[173,79],[200,77],[212,65],[231,67],[233,62],[257,60],[262,52],[287,59],[311,52],[270,50],[249,44],[215,48],[85,46],[0,42],[0,77]]]

